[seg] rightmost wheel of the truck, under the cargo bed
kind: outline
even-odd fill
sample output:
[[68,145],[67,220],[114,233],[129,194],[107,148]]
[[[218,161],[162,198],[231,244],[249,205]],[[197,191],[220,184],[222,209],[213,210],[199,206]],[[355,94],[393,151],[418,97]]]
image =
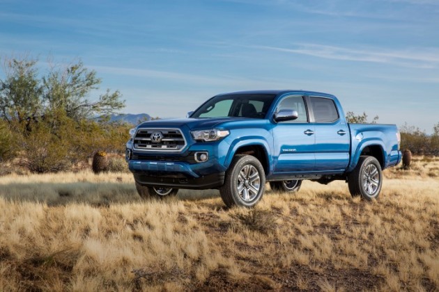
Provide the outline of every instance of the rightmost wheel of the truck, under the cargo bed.
[[373,156],[360,156],[357,166],[348,175],[349,193],[370,201],[378,198],[382,185],[383,172],[378,160]]

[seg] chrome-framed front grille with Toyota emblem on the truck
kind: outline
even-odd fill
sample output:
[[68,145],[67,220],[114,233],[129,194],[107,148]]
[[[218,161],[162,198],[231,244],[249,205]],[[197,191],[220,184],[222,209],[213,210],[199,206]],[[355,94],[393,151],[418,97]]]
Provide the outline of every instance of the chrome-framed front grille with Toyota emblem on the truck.
[[180,129],[138,129],[133,139],[134,149],[179,152],[186,146]]

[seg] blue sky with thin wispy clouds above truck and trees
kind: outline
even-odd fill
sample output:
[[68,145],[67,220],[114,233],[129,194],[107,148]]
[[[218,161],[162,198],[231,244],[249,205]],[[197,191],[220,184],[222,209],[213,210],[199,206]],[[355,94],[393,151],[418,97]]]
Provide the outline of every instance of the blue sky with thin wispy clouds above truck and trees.
[[0,54],[80,58],[125,113],[288,88],[427,133],[439,122],[439,0],[0,0]]

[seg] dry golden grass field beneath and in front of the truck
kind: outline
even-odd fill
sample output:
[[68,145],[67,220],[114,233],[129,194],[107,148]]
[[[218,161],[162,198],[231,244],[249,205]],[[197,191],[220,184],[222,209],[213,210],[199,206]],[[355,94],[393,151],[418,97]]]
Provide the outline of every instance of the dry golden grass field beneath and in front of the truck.
[[126,173],[0,177],[0,291],[434,291],[429,160],[386,170],[378,201],[305,181],[254,210],[214,190],[141,202]]

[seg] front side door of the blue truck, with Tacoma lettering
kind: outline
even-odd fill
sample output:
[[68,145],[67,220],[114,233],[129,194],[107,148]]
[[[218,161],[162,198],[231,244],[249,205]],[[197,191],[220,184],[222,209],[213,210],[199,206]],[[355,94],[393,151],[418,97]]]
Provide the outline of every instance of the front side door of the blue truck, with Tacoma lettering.
[[275,174],[294,174],[314,170],[314,124],[309,123],[304,97],[289,95],[282,98],[276,112],[281,109],[298,111],[298,118],[277,122],[273,127]]

